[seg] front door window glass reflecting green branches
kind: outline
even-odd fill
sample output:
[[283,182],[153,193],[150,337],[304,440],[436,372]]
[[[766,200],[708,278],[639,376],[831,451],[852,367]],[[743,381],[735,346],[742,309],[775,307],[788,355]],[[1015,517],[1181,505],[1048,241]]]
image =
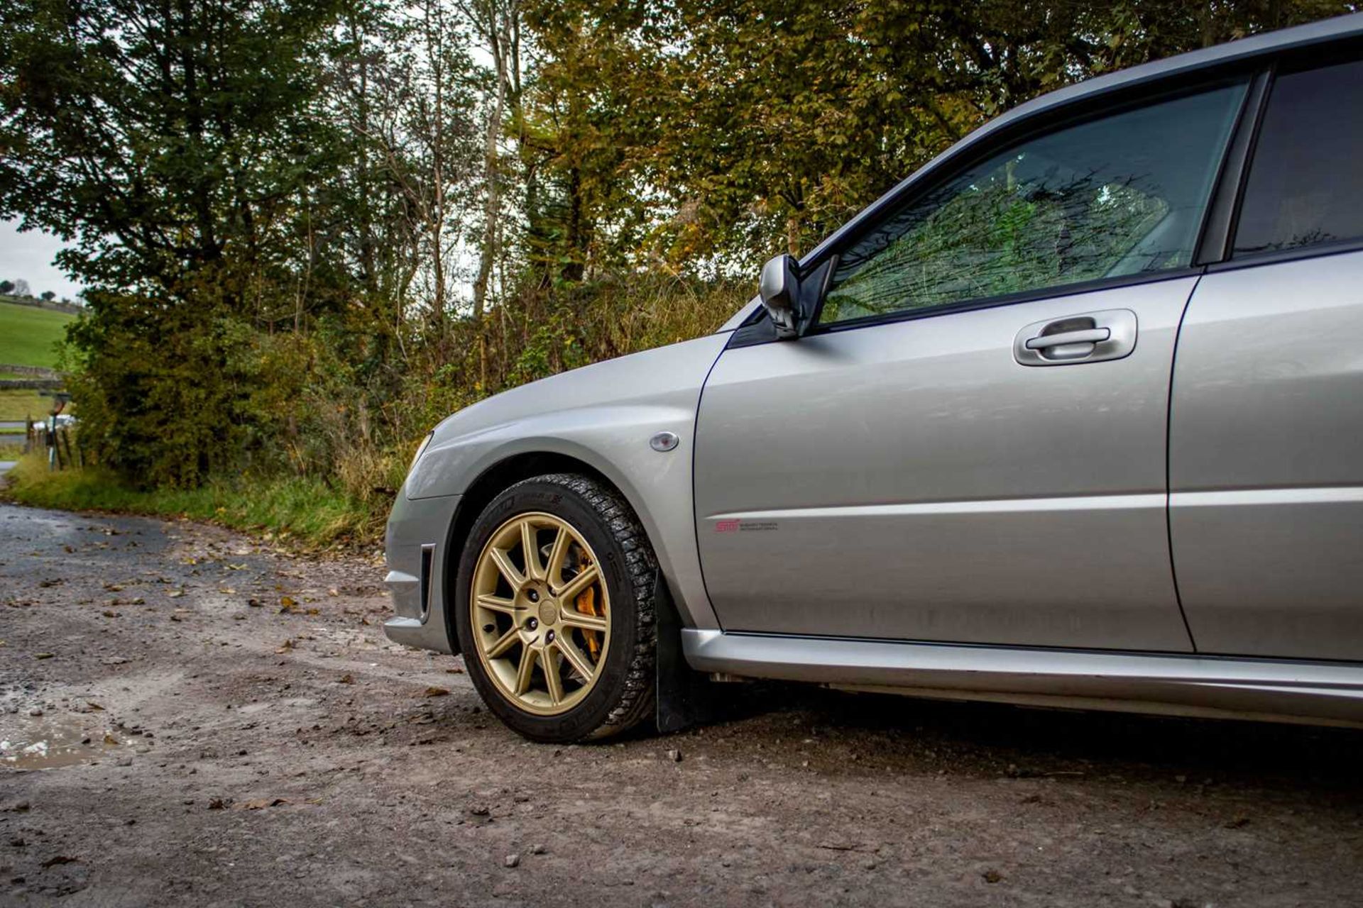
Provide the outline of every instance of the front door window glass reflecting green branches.
[[949,180],[842,252],[819,321],[1189,265],[1243,93],[1066,127]]

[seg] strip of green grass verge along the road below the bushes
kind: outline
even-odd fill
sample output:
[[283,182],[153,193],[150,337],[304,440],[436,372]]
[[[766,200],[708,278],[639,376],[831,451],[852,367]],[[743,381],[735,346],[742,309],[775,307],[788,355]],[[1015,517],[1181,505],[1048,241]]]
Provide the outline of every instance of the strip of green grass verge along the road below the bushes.
[[48,472],[46,459],[29,455],[8,474],[4,498],[34,508],[110,510],[207,520],[305,549],[373,549],[382,543],[387,510],[315,479],[215,482],[200,489],[132,489],[99,468]]

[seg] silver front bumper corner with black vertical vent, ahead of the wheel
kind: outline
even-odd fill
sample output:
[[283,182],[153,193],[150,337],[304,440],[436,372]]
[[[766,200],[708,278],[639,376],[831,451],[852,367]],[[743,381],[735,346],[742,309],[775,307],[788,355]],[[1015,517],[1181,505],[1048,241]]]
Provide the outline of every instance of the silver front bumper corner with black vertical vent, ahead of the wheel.
[[446,579],[459,553],[448,551],[450,527],[459,496],[408,498],[398,496],[384,535],[384,584],[393,596],[394,617],[383,622],[388,640],[408,647],[451,653],[446,632]]

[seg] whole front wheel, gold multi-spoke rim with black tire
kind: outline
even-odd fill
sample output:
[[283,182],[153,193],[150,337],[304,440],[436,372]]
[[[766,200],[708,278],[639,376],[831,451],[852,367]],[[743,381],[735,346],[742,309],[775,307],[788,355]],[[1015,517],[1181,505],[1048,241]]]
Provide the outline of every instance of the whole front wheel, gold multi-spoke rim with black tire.
[[630,505],[581,475],[511,486],[469,532],[455,633],[474,686],[534,741],[622,732],[653,709],[657,561]]

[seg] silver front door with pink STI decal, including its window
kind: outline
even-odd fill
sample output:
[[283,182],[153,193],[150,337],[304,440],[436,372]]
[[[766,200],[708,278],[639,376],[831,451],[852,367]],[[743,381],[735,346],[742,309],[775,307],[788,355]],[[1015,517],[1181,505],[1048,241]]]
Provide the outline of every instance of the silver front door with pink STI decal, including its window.
[[951,169],[826,263],[816,324],[720,357],[696,530],[725,630],[1187,651],[1165,442],[1243,86]]

